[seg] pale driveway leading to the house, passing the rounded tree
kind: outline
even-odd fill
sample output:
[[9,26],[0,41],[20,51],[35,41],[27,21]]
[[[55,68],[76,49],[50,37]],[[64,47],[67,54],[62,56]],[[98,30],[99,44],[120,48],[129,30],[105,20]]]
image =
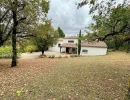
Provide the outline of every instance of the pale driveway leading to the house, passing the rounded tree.
[[[42,53],[41,52],[33,52],[33,53],[22,53],[21,57],[19,59],[31,59],[31,58],[38,58]],[[54,51],[45,51],[44,54],[48,56],[54,55],[55,57],[65,57],[68,56],[68,54],[61,54],[59,52],[54,52]]]

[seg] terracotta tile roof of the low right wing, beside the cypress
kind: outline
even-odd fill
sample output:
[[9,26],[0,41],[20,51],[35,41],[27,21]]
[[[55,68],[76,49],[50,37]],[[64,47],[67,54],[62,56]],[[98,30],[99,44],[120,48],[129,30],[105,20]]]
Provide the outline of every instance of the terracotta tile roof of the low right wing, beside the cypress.
[[82,47],[100,47],[100,48],[107,48],[107,45],[103,41],[93,41],[93,42],[82,42]]

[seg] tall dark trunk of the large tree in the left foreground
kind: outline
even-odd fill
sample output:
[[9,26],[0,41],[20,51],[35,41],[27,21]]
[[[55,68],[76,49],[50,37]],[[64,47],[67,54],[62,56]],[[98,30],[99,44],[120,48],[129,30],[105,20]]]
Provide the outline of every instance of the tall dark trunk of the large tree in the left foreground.
[[[17,0],[15,0],[15,2],[17,2]],[[17,22],[17,7],[15,7],[13,10],[12,10],[12,13],[13,13],[13,32],[12,32],[12,53],[13,53],[13,56],[12,56],[12,64],[11,64],[11,67],[15,67],[17,65],[17,49],[16,49],[16,33],[17,33],[17,25],[18,25],[18,22]]]

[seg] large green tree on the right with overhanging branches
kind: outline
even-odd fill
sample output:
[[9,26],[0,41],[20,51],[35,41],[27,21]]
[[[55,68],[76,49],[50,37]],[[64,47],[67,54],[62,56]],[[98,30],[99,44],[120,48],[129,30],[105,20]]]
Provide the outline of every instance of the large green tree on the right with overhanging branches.
[[[93,14],[94,20],[94,23],[88,27],[91,30],[88,38],[109,41],[111,37],[114,40],[115,49],[118,49],[122,43],[130,41],[130,2],[128,0],[118,5],[115,0],[91,0],[87,3],[91,6],[90,14]],[[84,3],[80,3],[80,7],[82,5]],[[129,45],[127,51],[129,51]]]

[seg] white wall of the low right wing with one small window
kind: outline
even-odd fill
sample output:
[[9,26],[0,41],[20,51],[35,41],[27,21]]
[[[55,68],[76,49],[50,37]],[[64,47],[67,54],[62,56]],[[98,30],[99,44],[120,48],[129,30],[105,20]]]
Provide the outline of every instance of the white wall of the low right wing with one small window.
[[[82,52],[82,50],[88,50],[88,52]],[[98,48],[98,47],[81,47],[80,55],[82,56],[96,56],[96,55],[106,55],[107,48]]]

